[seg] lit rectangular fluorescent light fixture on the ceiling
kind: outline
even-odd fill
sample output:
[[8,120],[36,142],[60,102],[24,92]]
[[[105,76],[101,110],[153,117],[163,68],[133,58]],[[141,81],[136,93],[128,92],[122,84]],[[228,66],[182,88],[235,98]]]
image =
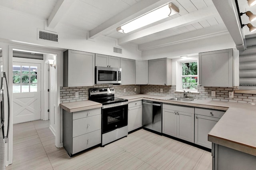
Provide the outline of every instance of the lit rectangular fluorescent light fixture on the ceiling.
[[168,16],[172,16],[174,14],[179,13],[180,10],[172,3],[157,8],[156,10],[150,11],[118,28],[116,31],[121,33],[128,33],[138,28],[142,28],[148,24],[152,24],[156,21],[167,18]]

